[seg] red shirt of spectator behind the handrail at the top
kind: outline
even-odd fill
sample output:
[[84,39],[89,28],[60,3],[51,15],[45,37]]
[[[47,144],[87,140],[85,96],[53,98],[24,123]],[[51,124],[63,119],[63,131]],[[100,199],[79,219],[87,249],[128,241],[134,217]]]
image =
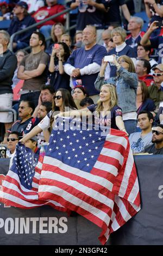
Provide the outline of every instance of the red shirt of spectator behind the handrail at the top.
[[[61,11],[64,11],[66,8],[61,5],[61,4],[55,4],[52,7],[44,6],[41,7],[39,10],[35,11],[33,14],[33,17],[36,22],[40,22],[42,20],[45,20],[46,18],[58,14]],[[57,18],[54,18],[53,20],[46,21],[45,23],[42,23],[41,25],[38,26],[38,28],[45,26],[45,25],[54,25],[57,22],[61,22],[62,24],[65,23],[65,16],[66,14],[62,14],[58,16]]]

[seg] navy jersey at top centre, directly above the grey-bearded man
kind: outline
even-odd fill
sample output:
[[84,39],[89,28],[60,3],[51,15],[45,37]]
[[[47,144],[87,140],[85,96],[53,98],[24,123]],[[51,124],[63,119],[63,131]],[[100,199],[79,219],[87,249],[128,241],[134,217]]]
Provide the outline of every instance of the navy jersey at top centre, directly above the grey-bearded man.
[[[72,3],[76,2],[73,0]],[[96,3],[104,4],[105,7],[108,6],[108,2],[105,0],[95,0]],[[83,30],[86,25],[94,25],[96,28],[103,28],[103,18],[104,11],[96,9],[91,5],[83,5],[83,7],[78,8],[78,17],[77,17],[77,27],[76,30]]]

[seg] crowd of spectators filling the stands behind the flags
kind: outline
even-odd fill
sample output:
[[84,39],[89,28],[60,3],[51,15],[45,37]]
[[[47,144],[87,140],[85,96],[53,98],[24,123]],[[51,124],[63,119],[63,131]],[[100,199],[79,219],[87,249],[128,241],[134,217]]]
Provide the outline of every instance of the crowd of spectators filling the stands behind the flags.
[[[10,45],[12,34],[68,5],[57,0],[0,1],[1,21],[11,20],[8,29],[0,30],[1,142],[7,143],[9,155],[20,139],[39,153],[37,146],[48,142],[55,111],[64,113],[66,107],[86,114],[110,111],[111,127],[130,136],[134,153],[151,143],[162,147],[157,137],[161,140],[163,132],[163,1],[140,1],[151,19],[147,31],[141,17],[130,15],[128,2],[72,0],[70,8],[78,9],[74,35],[66,32],[66,15],[61,14],[15,35]],[[105,56],[112,59],[105,61]],[[20,82],[15,102],[12,89]],[[17,111],[15,123],[5,111],[12,108]],[[110,123],[108,116],[93,118]]]

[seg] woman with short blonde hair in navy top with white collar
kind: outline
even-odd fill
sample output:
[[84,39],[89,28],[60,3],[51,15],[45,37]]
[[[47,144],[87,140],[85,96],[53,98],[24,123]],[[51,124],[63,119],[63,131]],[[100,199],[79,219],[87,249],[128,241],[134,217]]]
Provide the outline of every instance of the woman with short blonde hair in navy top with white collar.
[[[115,43],[116,47],[108,52],[108,55],[115,54],[118,57],[122,55],[126,55],[130,58],[133,58],[135,62],[136,54],[133,48],[128,46],[125,42],[126,39],[126,31],[122,27],[114,28],[111,32],[112,40]],[[110,64],[110,63],[109,63]],[[116,66],[114,64],[110,64],[110,77],[116,76]]]

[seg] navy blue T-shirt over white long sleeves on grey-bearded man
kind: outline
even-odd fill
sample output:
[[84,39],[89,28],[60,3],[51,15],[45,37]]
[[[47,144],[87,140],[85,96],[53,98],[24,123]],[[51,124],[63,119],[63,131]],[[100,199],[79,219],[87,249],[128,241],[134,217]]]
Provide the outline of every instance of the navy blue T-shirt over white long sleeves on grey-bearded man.
[[[107,54],[108,53],[105,47],[102,45],[96,44],[90,50],[85,50],[84,47],[81,47],[71,54],[66,64],[71,64],[75,68],[79,69],[82,69],[84,68],[84,66],[92,63],[97,63],[98,65],[101,65],[103,57]],[[97,75],[98,72],[95,74],[83,75],[76,78],[77,80],[82,80],[82,86],[85,87],[86,92],[89,95],[99,94],[98,90],[96,90],[94,86]]]

